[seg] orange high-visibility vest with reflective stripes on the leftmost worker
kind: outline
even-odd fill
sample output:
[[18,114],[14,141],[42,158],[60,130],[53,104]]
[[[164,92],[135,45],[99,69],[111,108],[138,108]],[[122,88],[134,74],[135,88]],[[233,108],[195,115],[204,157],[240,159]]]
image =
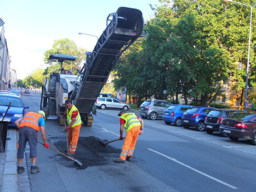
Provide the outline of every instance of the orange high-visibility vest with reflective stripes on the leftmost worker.
[[40,130],[40,126],[38,124],[39,118],[42,117],[40,114],[35,112],[28,112],[20,122],[20,127],[31,127],[37,131]]

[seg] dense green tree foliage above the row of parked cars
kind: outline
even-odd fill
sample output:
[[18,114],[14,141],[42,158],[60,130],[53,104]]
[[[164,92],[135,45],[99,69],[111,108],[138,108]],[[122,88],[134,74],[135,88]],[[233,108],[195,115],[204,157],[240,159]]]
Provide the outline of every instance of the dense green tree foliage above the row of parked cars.
[[[159,7],[151,6],[155,17],[145,27],[150,35],[132,45],[116,65],[119,79],[115,85],[126,84],[146,98],[161,99],[163,90],[168,90],[174,103],[179,94],[186,103],[188,97],[200,94],[200,105],[206,106],[222,94],[222,84],[231,79],[242,103],[250,9],[222,0],[159,2]],[[254,4],[251,0],[243,3]],[[255,88],[254,48],[250,56],[249,86]]]

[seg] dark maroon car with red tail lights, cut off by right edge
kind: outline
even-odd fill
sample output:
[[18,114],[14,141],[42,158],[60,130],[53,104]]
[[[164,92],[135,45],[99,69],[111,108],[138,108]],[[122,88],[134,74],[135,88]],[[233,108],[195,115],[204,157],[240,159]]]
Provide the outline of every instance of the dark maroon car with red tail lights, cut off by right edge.
[[233,141],[242,138],[256,145],[256,112],[240,112],[222,119],[220,132]]

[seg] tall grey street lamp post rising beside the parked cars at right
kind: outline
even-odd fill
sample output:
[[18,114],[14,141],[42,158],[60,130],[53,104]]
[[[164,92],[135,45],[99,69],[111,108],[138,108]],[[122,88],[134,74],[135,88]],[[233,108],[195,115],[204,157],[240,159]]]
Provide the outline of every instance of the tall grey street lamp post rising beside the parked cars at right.
[[246,111],[246,106],[247,106],[247,91],[248,91],[248,72],[249,72],[249,61],[250,61],[250,44],[251,44],[251,28],[252,28],[252,6],[250,5],[246,5],[243,3],[239,3],[233,0],[224,0],[225,3],[228,2],[234,2],[234,3],[238,3],[247,7],[251,8],[251,16],[250,16],[250,30],[249,30],[249,45],[248,45],[248,58],[247,58],[247,70],[246,70],[246,86],[245,86],[245,98],[244,98],[244,111]]

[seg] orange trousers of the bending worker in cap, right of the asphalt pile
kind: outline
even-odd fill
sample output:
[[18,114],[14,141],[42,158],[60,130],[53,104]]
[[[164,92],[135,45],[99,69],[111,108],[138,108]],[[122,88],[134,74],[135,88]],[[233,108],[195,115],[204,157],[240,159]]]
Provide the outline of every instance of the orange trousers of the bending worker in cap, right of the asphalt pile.
[[132,156],[139,133],[140,126],[134,126],[126,133],[119,158],[120,160],[126,160],[126,156]]

